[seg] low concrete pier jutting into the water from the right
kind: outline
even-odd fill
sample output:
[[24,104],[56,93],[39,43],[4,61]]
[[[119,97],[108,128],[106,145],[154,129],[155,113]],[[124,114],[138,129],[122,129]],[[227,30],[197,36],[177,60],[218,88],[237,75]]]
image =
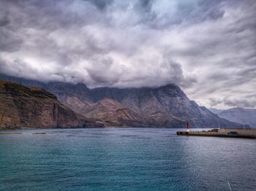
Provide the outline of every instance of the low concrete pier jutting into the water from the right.
[[178,136],[217,136],[256,139],[256,129],[249,128],[222,128],[202,131],[178,131]]

